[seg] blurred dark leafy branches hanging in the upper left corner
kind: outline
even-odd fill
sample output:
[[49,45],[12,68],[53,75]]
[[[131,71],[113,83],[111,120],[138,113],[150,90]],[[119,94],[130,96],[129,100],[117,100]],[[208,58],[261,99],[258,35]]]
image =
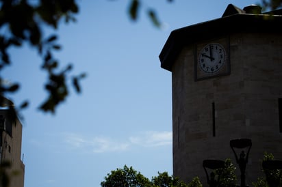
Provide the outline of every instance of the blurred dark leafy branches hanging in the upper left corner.
[[[68,80],[73,80],[73,87],[79,93],[81,91],[79,81],[85,74],[70,76],[72,65],[59,69],[59,61],[53,57],[53,51],[60,50],[57,44],[57,35],[43,38],[42,28],[51,27],[57,29],[61,20],[68,23],[74,21],[74,15],[79,8],[75,0],[40,0],[31,4],[30,1],[0,1],[0,29],[8,30],[0,33],[0,72],[11,64],[8,49],[12,46],[21,47],[24,43],[37,49],[42,57],[42,70],[48,74],[45,89],[49,96],[42,102],[40,110],[55,112],[55,107],[68,96]],[[0,76],[0,95],[18,91],[18,83],[8,83]],[[28,102],[21,104],[25,108]]]

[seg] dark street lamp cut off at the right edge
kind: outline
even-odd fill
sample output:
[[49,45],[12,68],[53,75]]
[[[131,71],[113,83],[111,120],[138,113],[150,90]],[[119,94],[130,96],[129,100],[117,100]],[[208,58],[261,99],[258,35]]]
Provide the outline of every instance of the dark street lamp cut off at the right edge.
[[264,173],[266,174],[266,182],[268,182],[268,186],[276,187],[281,185],[281,177],[282,177],[281,160],[264,160],[262,162],[262,168],[264,169]]

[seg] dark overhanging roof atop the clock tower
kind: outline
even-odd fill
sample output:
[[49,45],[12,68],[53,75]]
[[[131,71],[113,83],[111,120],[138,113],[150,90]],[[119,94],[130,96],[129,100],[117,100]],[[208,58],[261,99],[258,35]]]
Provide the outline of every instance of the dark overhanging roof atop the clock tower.
[[282,33],[282,10],[262,14],[260,11],[261,8],[257,5],[249,5],[242,10],[229,4],[221,18],[172,31],[159,54],[161,67],[171,71],[181,48],[201,40],[231,33]]

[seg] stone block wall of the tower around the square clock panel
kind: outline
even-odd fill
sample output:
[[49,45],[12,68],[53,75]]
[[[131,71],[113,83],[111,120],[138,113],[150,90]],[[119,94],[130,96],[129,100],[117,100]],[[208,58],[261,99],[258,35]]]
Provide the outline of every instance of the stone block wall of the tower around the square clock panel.
[[174,175],[186,182],[199,176],[206,184],[202,167],[205,159],[231,158],[238,167],[229,146],[231,139],[248,138],[253,142],[246,168],[247,184],[263,175],[260,161],[264,152],[282,160],[278,107],[278,99],[282,98],[282,36],[237,33],[229,38],[228,76],[194,81],[194,45],[182,48],[173,63],[173,169]]

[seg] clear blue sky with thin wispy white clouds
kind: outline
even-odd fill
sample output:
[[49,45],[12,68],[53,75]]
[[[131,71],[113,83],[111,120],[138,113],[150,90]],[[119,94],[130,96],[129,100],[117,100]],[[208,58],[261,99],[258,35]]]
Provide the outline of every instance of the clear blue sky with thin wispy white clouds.
[[172,30],[220,18],[229,3],[257,1],[142,1],[142,10],[158,12],[162,29],[144,12],[132,22],[129,1],[77,2],[77,23],[57,31],[63,48],[56,58],[87,73],[81,94],[71,89],[55,115],[38,111],[46,74],[29,46],[10,51],[13,65],[3,72],[22,85],[11,95],[15,104],[31,102],[22,112],[25,187],[100,186],[125,164],[149,179],[172,175],[171,74],[160,68],[159,53]]

